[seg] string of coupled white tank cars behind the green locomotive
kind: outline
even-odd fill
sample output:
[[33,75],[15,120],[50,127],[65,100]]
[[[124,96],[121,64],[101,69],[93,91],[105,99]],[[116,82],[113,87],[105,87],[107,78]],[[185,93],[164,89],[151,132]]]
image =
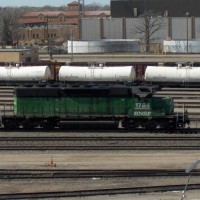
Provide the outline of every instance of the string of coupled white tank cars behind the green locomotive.
[[[161,87],[200,87],[200,67],[191,65],[153,66],[108,65],[105,63],[61,65],[52,63],[41,66],[2,66],[0,84],[56,83],[128,83],[129,85],[159,85]],[[130,63],[129,63],[130,64]]]

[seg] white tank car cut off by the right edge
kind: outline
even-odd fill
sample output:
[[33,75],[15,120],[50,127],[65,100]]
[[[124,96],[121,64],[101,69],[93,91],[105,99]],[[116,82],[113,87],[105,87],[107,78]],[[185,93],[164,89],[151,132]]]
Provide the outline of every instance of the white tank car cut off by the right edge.
[[147,66],[144,79],[146,82],[200,82],[200,67],[191,66]]

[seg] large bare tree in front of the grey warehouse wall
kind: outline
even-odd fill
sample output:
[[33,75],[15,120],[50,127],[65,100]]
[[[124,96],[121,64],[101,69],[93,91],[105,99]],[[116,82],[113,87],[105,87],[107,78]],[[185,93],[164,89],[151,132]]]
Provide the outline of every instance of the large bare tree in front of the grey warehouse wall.
[[156,38],[156,33],[165,29],[164,18],[153,11],[149,10],[139,16],[138,23],[134,27],[134,34],[137,34],[142,43],[145,45],[145,52],[150,51],[150,43]]

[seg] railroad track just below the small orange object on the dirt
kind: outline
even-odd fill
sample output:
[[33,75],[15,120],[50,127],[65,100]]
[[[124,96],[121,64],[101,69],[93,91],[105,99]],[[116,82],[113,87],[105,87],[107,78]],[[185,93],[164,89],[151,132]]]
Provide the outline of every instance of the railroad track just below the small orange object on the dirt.
[[[193,170],[190,175],[200,176],[200,170]],[[55,169],[0,169],[1,179],[49,179],[49,178],[117,178],[117,177],[188,177],[184,169],[148,169],[148,170],[55,170]]]

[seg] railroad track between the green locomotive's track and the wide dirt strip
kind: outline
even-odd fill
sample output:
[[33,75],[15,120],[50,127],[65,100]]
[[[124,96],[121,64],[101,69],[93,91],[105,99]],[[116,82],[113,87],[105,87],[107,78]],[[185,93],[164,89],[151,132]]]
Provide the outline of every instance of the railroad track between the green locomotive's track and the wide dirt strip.
[[200,137],[1,137],[0,150],[200,150]]

